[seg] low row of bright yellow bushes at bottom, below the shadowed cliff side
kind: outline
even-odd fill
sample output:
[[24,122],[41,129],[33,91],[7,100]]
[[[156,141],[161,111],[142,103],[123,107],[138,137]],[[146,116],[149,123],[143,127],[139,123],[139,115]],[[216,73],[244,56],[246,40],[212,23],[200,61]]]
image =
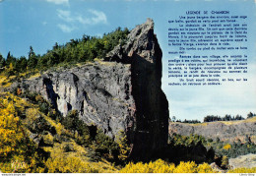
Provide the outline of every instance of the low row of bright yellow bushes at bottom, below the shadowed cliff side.
[[209,164],[197,165],[194,161],[183,162],[175,167],[173,163],[167,163],[161,159],[150,163],[128,163],[120,173],[216,173]]

